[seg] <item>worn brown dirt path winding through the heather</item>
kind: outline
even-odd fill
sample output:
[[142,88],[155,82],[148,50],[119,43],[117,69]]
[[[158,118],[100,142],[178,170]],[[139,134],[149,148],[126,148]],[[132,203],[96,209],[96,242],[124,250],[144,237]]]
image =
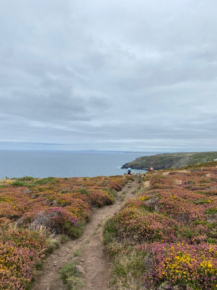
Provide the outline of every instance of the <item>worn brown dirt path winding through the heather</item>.
[[96,208],[91,221],[86,225],[83,235],[78,240],[70,240],[60,246],[44,263],[42,274],[38,277],[33,290],[65,290],[67,287],[60,279],[59,270],[65,263],[74,260],[74,252],[79,250],[76,258],[85,271],[83,276],[85,290],[107,290],[109,262],[102,244],[102,221],[113,216],[122,205],[121,197],[126,195],[126,200],[135,197],[132,193],[138,186],[137,180],[127,183],[118,192],[113,205]]

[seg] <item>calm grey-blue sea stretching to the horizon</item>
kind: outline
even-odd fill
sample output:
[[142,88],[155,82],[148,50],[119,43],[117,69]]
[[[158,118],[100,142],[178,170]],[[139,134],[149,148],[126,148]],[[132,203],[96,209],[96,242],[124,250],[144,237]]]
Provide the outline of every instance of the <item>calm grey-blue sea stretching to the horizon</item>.
[[120,168],[123,164],[142,155],[153,154],[0,150],[0,179],[6,176],[41,178],[121,175],[126,172],[126,169]]

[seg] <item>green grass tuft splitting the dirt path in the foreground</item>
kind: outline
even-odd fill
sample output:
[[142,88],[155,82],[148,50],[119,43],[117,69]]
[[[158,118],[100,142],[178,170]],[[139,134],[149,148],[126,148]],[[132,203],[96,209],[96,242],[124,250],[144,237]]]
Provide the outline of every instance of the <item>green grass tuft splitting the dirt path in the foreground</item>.
[[[60,277],[63,282],[67,284],[68,289],[78,290],[84,286],[82,275],[76,269],[77,262],[69,262],[65,264],[60,270]],[[78,288],[79,287],[79,288]]]

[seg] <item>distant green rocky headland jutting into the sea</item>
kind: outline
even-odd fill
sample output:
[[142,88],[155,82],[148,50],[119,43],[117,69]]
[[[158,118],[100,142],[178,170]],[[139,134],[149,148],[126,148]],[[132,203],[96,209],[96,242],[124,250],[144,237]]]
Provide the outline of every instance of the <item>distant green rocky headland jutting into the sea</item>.
[[125,163],[121,168],[147,170],[149,167],[154,169],[180,168],[192,164],[217,160],[217,152],[179,152],[161,153],[151,156],[142,156],[136,160]]

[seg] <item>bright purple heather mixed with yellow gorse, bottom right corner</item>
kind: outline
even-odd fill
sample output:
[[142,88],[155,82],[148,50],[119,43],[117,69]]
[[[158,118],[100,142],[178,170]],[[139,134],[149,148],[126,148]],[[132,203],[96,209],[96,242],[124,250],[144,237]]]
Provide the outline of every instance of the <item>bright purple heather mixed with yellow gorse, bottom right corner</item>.
[[144,276],[147,286],[157,287],[166,281],[171,287],[179,284],[185,289],[216,288],[216,245],[153,243],[138,249],[149,252],[153,257],[154,267]]

